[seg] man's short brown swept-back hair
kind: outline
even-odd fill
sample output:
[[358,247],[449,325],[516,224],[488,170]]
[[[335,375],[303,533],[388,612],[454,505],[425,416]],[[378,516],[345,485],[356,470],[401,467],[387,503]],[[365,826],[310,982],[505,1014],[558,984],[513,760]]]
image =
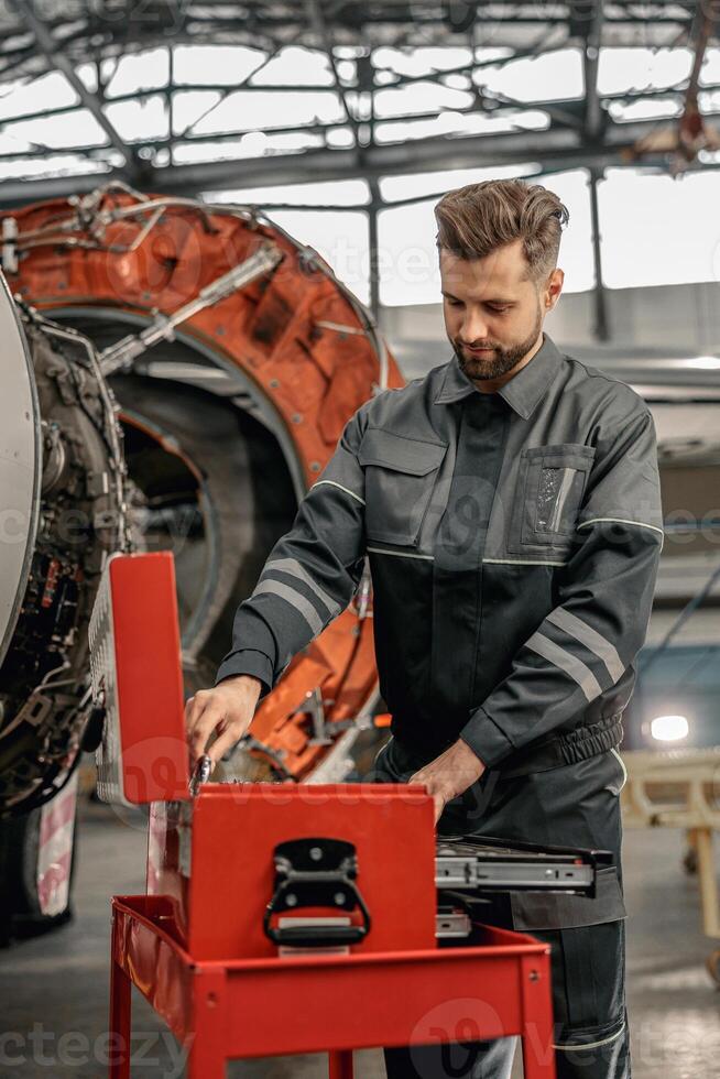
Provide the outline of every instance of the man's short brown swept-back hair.
[[560,232],[569,220],[554,192],[522,179],[484,179],[448,192],[435,206],[437,246],[460,259],[483,259],[522,239],[531,277],[557,265]]

